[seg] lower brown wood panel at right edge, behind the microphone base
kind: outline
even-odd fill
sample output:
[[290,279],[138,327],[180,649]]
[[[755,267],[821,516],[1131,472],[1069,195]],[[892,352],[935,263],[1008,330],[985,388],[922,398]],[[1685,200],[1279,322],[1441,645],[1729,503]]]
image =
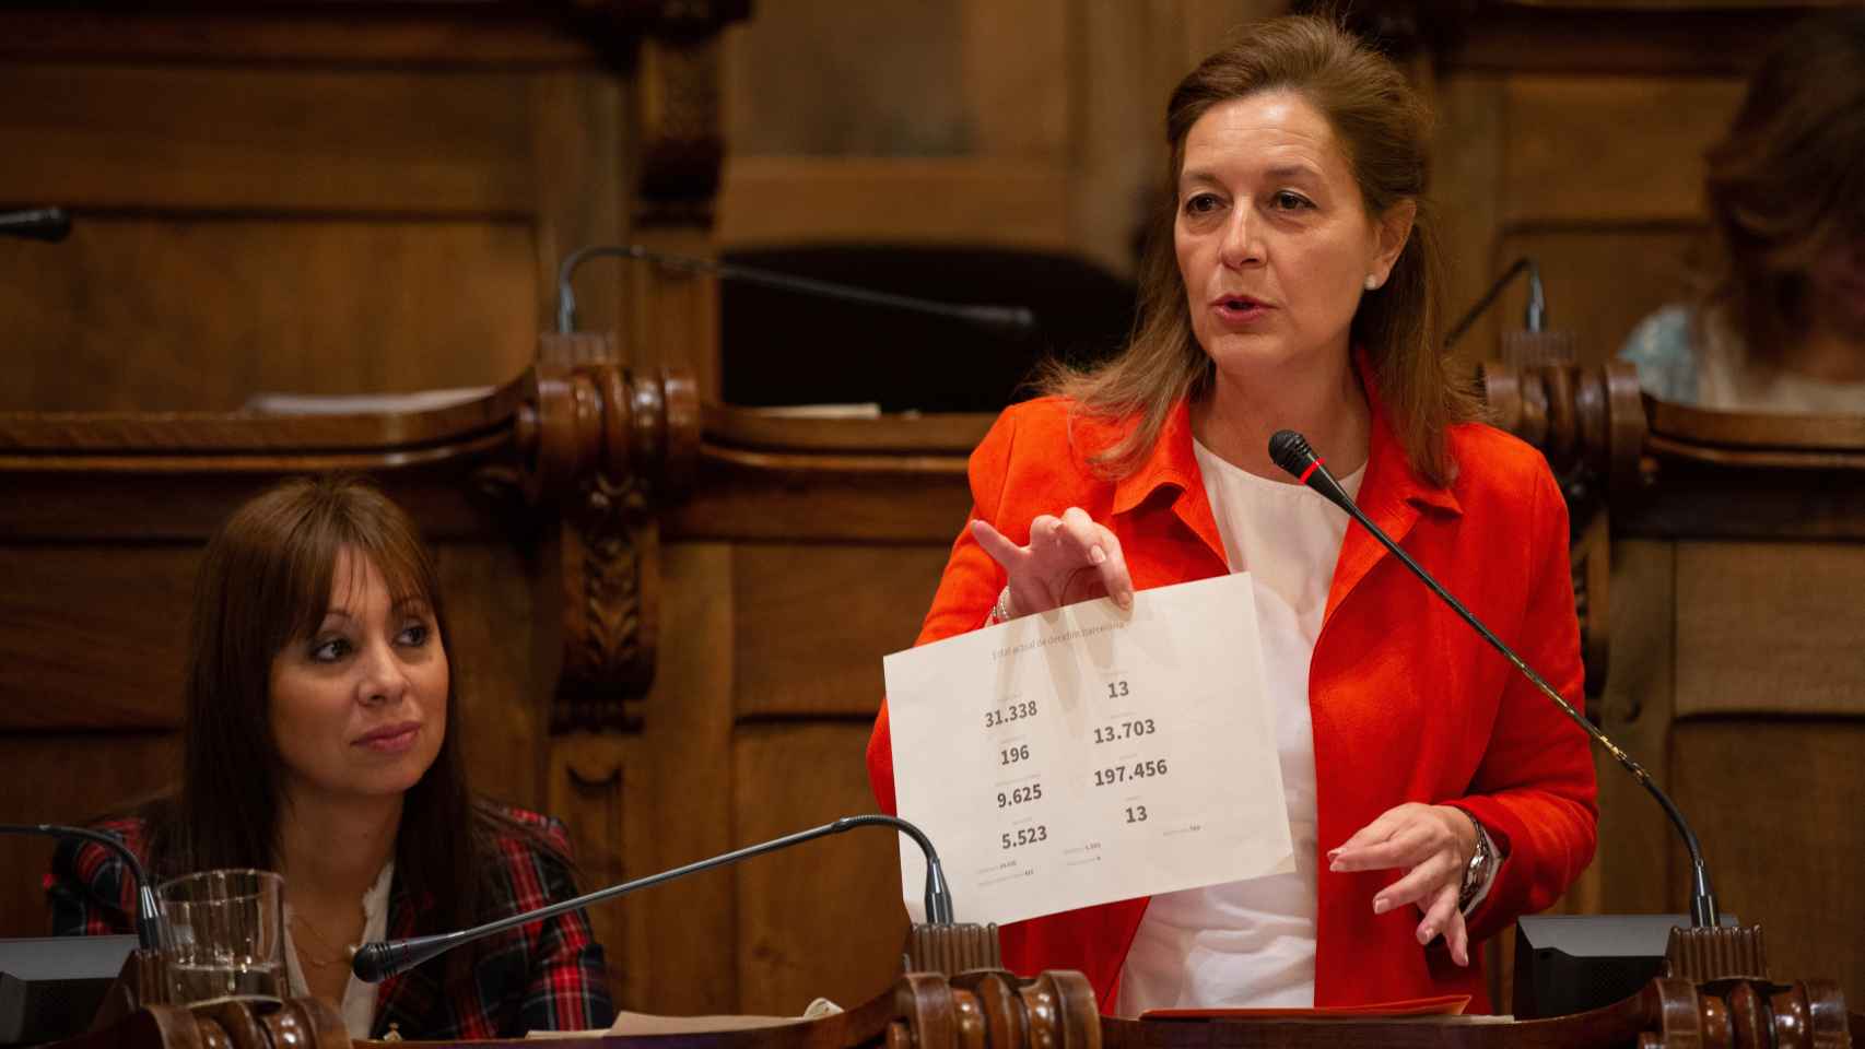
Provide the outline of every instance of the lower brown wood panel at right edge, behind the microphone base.
[[[1772,974],[1828,976],[1846,1001],[1865,1001],[1865,721],[1686,721],[1673,751],[1677,803],[1695,822],[1718,902],[1764,926]],[[1680,848],[1673,870],[1688,870]]]

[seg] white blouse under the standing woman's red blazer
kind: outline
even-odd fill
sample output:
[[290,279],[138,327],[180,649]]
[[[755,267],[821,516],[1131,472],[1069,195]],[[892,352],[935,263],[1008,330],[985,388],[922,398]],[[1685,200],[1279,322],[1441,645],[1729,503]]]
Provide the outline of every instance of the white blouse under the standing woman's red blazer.
[[[1348,518],[1302,484],[1257,477],[1194,442],[1231,572],[1250,572],[1294,874],[1153,896],[1115,1012],[1315,1004],[1315,740],[1307,665]],[[1341,479],[1360,494],[1365,468]]]

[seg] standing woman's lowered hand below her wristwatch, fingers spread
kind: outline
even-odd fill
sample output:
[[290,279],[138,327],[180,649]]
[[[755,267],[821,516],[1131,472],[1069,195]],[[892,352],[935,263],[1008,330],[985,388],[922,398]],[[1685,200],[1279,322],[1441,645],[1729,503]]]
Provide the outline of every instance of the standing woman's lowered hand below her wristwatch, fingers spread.
[[1330,851],[1328,870],[1408,868],[1404,878],[1373,896],[1373,913],[1384,915],[1397,906],[1417,904],[1425,911],[1417,941],[1430,943],[1444,933],[1451,961],[1470,965],[1470,932],[1464,928],[1464,913],[1457,909],[1457,894],[1475,853],[1477,827],[1462,809],[1408,801],[1388,809]]

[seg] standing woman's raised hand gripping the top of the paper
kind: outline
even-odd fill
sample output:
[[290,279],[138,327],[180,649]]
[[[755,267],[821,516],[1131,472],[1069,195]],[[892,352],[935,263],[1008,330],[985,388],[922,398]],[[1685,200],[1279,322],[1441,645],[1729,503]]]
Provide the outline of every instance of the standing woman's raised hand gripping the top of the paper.
[[1011,611],[1029,615],[1100,596],[1123,609],[1134,607],[1134,581],[1113,531],[1069,507],[1059,518],[1043,514],[1029,522],[1029,546],[1016,546],[983,518],[972,522],[972,538],[1011,576]]

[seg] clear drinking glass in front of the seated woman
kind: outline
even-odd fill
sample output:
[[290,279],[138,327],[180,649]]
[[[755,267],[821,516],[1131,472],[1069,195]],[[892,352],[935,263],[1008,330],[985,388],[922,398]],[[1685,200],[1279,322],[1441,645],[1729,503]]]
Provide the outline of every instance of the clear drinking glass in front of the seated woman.
[[285,993],[285,879],[270,870],[203,870],[157,889],[168,922],[173,1004]]

